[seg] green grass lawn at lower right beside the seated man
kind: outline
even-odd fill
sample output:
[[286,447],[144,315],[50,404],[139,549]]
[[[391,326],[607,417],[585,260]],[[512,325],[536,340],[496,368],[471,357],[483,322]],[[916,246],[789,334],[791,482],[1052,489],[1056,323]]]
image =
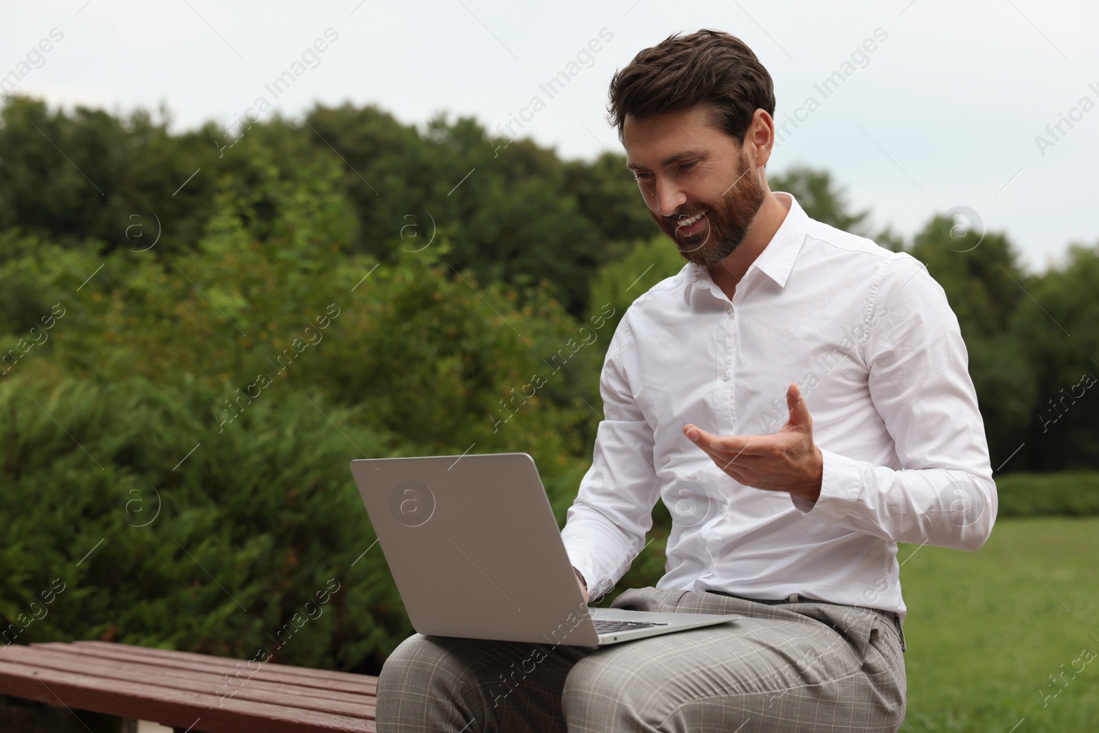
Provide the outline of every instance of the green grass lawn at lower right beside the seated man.
[[901,730],[1099,731],[1099,518],[1001,519],[975,553],[903,545],[898,556]]

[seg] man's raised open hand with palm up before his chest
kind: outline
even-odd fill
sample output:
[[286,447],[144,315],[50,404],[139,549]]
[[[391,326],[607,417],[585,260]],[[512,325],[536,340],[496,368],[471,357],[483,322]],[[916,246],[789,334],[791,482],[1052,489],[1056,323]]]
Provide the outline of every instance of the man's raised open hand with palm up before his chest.
[[796,384],[786,390],[790,415],[774,435],[712,435],[697,425],[684,425],[686,435],[724,473],[744,486],[817,501],[824,460],[813,445],[813,419]]

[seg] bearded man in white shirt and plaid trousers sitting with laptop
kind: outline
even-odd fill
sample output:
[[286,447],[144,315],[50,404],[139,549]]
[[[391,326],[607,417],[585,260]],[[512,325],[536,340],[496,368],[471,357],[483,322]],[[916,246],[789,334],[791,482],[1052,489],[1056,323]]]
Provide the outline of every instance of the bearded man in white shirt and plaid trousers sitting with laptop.
[[659,498],[666,574],[612,606],[747,618],[545,646],[515,687],[535,645],[417,634],[382,669],[382,733],[902,724],[897,543],[988,538],[984,424],[957,320],[920,263],[768,189],[774,112],[766,69],[715,31],[670,36],[614,76],[628,165],[687,265],[614,333],[562,532],[585,597],[601,596]]

